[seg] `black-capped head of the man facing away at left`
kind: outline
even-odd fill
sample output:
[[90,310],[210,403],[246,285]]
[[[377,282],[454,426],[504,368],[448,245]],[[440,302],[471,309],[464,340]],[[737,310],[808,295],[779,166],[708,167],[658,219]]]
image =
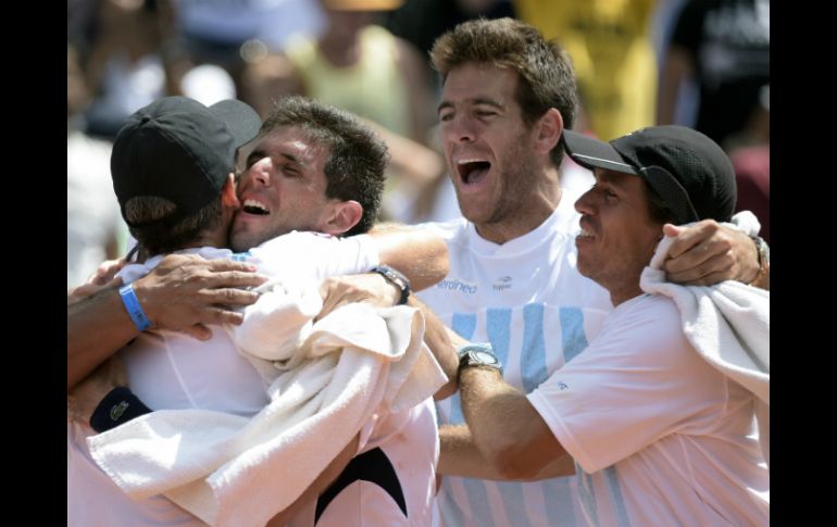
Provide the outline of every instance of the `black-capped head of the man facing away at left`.
[[142,261],[226,244],[218,226],[229,225],[238,205],[232,163],[260,127],[255,111],[236,100],[205,108],[167,97],[127,118],[113,145],[111,174]]

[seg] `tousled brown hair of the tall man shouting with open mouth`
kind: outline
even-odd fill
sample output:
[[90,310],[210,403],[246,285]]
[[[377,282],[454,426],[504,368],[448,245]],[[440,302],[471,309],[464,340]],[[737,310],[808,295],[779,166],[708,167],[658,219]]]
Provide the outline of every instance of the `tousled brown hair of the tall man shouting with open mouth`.
[[[513,18],[462,23],[436,40],[430,59],[442,79],[470,62],[514,70],[520,77],[515,100],[527,126],[550,108],[561,113],[565,128],[575,123],[578,93],[573,62],[557,42],[528,24]],[[559,142],[551,152],[555,166],[563,155]]]

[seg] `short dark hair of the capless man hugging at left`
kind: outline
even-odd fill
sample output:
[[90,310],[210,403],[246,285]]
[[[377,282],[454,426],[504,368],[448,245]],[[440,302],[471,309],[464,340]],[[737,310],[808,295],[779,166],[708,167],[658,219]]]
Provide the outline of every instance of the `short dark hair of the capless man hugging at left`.
[[264,121],[261,135],[282,126],[298,127],[312,140],[328,147],[325,196],[354,200],[363,206],[360,222],[346,235],[372,228],[380,209],[384,171],[389,163],[384,141],[350,113],[303,97],[279,99]]

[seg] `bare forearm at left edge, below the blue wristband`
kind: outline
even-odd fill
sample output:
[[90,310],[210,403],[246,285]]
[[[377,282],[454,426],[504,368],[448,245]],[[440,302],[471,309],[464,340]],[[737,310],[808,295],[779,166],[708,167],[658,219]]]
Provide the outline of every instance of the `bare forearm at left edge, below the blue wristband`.
[[67,390],[139,335],[117,287],[67,305]]

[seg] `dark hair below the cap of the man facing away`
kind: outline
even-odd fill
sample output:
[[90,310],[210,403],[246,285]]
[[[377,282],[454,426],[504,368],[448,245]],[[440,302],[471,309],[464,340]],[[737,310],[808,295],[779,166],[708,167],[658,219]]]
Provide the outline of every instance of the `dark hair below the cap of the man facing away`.
[[177,206],[173,201],[155,196],[138,196],[125,202],[125,216],[129,222],[143,224],[128,227],[149,256],[183,249],[203,231],[214,229],[221,222],[223,208],[221,193],[198,212],[175,222],[160,222]]

